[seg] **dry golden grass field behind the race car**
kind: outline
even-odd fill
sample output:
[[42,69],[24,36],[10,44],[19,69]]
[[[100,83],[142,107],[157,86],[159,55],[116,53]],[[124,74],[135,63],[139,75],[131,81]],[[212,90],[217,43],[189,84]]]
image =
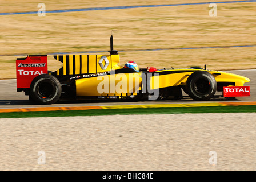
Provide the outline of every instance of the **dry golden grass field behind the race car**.
[[[47,10],[87,7],[161,5],[191,1],[42,1]],[[205,0],[193,1],[208,2]],[[217,2],[217,1],[215,1]],[[38,11],[38,1],[0,1],[0,13]],[[175,49],[256,45],[256,2],[78,11],[70,13],[0,15],[0,79],[15,78],[17,55],[119,50],[121,64],[134,60],[140,68],[256,68],[256,47]],[[174,49],[172,49],[174,48]],[[168,49],[165,51],[136,51]],[[49,69],[61,67],[49,56]]]

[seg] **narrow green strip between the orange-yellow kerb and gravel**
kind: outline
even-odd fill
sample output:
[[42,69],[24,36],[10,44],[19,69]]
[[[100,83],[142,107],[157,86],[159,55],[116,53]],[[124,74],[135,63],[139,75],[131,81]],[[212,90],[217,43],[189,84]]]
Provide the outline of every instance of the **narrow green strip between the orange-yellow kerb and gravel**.
[[0,118],[29,118],[29,117],[65,117],[115,114],[183,114],[183,113],[254,113],[256,105],[247,106],[206,106],[206,107],[171,107],[171,108],[135,108],[135,109],[94,109],[67,111],[39,111],[0,113]]

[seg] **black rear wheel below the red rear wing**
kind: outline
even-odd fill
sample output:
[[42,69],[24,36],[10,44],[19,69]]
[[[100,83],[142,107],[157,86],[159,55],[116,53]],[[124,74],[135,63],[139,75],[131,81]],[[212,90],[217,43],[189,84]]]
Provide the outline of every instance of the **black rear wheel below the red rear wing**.
[[30,99],[37,104],[53,104],[61,97],[61,83],[52,75],[39,75],[30,85]]

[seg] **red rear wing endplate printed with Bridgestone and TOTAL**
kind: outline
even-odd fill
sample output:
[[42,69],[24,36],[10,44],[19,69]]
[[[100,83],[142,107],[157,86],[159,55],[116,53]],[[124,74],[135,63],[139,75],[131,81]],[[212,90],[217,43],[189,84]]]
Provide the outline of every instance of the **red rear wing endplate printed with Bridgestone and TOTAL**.
[[36,76],[47,74],[47,72],[47,55],[29,55],[26,58],[17,58],[17,91],[30,88],[30,84]]

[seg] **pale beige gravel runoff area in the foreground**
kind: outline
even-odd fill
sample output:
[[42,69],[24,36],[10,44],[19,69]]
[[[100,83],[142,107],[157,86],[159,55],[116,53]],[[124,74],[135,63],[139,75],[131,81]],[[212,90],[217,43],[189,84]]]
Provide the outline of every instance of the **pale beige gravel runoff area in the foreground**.
[[0,119],[0,170],[255,170],[256,113]]

